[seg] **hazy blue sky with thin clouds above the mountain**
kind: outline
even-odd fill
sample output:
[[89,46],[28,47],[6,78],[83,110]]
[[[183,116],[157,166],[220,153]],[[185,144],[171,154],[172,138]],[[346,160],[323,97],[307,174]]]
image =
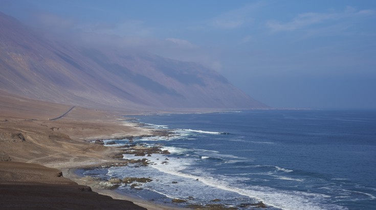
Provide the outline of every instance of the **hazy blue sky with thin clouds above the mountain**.
[[47,36],[201,63],[271,107],[376,109],[374,0],[0,0],[0,11]]

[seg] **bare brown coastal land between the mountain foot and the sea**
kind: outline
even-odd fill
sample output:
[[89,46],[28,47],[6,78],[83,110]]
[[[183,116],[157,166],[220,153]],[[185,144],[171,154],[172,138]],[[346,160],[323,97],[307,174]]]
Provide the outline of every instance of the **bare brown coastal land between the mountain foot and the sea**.
[[76,107],[63,118],[51,121],[49,118],[71,106],[7,94],[0,95],[0,101],[0,192],[5,198],[0,201],[1,207],[184,209],[114,190],[91,187],[96,193],[90,192],[82,177],[74,173],[75,168],[122,162],[112,158],[118,148],[90,140],[151,135],[150,129],[124,122],[120,114],[126,113]]

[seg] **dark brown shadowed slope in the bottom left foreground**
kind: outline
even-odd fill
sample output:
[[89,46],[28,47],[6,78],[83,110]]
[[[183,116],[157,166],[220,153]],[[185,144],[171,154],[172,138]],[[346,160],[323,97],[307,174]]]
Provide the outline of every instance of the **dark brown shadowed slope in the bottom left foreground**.
[[62,177],[57,169],[37,164],[0,162],[0,209],[145,210],[131,201],[92,192]]

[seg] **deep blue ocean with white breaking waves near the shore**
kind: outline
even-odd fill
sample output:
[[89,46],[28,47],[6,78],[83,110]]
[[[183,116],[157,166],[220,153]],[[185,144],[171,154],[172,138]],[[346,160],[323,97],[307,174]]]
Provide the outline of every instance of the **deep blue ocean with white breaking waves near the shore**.
[[239,209],[253,209],[244,204],[259,201],[269,209],[376,209],[376,111],[132,117],[155,129],[172,129],[169,137],[135,139],[171,154],[143,157],[152,163],[147,167],[96,169],[85,175],[151,177],[140,186],[143,190],[125,185],[119,190],[156,202],[179,198]]

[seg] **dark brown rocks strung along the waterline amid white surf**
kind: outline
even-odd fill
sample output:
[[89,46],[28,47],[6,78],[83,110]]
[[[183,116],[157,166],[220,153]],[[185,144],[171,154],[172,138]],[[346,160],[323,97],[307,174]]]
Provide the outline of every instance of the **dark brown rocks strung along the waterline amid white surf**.
[[[142,137],[171,137],[173,136],[173,133],[171,133],[169,130],[162,130],[156,133],[158,135],[153,136],[142,136]],[[95,140],[96,144],[100,145],[107,145],[111,147],[116,147],[120,150],[119,153],[115,154],[113,156],[114,159],[119,160],[119,163],[109,163],[109,164],[101,164],[97,166],[92,166],[89,168],[84,168],[84,171],[95,171],[95,170],[105,170],[107,168],[112,167],[147,167],[149,165],[156,165],[157,163],[154,163],[148,159],[148,157],[151,157],[154,154],[162,154],[168,155],[170,152],[168,150],[163,150],[163,146],[148,146],[144,143],[135,143],[137,142],[137,138],[142,137],[127,137],[121,139],[121,143],[116,143],[116,140]],[[124,144],[124,141],[127,141],[128,143]],[[124,155],[128,157],[128,159],[124,159]],[[134,156],[133,159],[129,159],[130,156]],[[159,160],[159,159],[156,159]],[[169,159],[163,158],[161,159],[162,162],[160,164],[169,164]],[[76,174],[76,176],[78,176]],[[197,179],[198,180],[198,179]],[[106,190],[116,190],[120,186],[128,186],[130,189],[135,190],[144,190],[143,189],[143,183],[151,182],[153,181],[152,177],[102,177],[102,176],[82,176],[79,178],[79,183],[82,183],[83,185],[92,186],[96,189],[106,189]],[[156,181],[159,181],[158,179]],[[172,181],[171,184],[177,184],[177,181]],[[115,191],[113,191],[115,192]],[[173,198],[170,199],[170,203],[179,204],[179,206],[184,206],[187,209],[207,209],[207,210],[235,210],[235,209],[253,209],[253,208],[267,208],[267,206],[262,203],[241,203],[238,206],[228,206],[225,204],[219,204],[220,199],[214,199],[214,200],[208,200],[207,203],[203,204],[189,204],[190,202],[195,200],[193,196],[190,196],[188,200],[184,199],[177,199]],[[135,202],[135,200],[132,200]],[[183,209],[183,208],[177,208],[170,206],[168,209]]]

